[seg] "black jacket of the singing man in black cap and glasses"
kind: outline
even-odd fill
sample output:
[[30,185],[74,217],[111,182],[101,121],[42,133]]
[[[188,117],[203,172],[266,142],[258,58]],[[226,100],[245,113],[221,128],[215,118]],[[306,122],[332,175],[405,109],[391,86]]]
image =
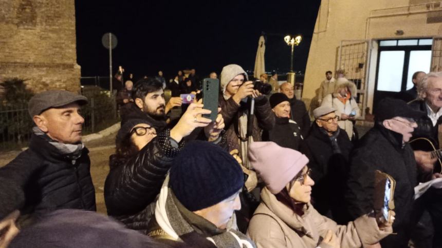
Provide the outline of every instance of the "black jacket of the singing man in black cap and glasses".
[[351,217],[356,219],[373,210],[374,175],[380,170],[396,180],[394,231],[409,226],[417,167],[410,145],[402,146],[402,135],[376,123],[356,144],[350,164],[345,198]]

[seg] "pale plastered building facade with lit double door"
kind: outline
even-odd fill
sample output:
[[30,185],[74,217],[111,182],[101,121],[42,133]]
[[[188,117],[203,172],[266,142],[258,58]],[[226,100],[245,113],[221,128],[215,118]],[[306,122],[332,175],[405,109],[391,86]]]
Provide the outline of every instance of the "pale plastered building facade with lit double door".
[[[326,71],[358,86],[361,113],[410,89],[415,71],[441,71],[442,3],[429,0],[322,0],[303,98],[315,102]],[[314,105],[311,105],[314,106]]]

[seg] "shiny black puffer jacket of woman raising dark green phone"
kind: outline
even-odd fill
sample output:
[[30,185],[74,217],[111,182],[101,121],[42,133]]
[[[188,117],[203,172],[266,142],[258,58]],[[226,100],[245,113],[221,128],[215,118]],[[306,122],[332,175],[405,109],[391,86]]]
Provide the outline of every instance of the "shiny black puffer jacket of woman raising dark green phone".
[[108,215],[128,228],[145,230],[153,214],[149,204],[155,201],[165,175],[178,149],[172,147],[170,131],[165,129],[134,157],[124,161],[111,156],[111,171],[104,184]]

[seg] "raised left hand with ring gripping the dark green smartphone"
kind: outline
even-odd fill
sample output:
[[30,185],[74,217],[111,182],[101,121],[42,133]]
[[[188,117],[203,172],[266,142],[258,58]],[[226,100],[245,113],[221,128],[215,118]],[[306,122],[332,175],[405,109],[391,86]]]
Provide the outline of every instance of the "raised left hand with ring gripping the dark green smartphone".
[[204,118],[201,115],[210,114],[208,109],[202,109],[202,99],[195,104],[190,104],[186,112],[179,118],[178,123],[170,131],[171,138],[179,142],[183,137],[189,135],[197,127],[206,127],[212,122],[211,119]]

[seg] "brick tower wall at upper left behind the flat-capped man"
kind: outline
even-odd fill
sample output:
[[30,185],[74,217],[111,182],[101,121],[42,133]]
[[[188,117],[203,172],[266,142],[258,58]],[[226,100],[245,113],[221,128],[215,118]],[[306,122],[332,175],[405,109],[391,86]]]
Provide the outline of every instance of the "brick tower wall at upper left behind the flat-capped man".
[[80,90],[74,0],[0,0],[0,79],[34,92]]

